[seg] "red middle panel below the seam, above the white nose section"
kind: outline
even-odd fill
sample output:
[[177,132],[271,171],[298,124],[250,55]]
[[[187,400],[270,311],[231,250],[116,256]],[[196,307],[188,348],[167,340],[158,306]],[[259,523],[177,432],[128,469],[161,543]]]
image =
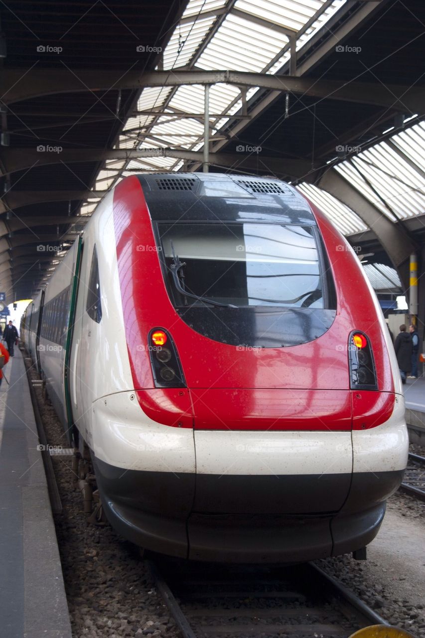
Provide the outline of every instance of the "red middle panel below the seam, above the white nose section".
[[351,430],[345,390],[191,390],[197,430]]

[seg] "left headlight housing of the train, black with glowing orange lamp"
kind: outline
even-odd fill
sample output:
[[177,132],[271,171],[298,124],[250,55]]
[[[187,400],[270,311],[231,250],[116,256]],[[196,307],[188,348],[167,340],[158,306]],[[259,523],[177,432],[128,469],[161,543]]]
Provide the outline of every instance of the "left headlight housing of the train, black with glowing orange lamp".
[[[149,332],[148,343],[155,387],[186,387],[179,354],[170,333],[163,328],[154,328]],[[164,347],[165,343],[167,347]]]

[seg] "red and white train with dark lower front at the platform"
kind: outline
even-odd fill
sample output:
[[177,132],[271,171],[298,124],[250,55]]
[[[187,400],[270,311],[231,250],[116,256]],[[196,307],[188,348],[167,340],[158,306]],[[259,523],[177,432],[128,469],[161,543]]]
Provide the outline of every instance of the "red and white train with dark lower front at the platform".
[[408,455],[399,369],[359,258],[290,184],[126,177],[21,336],[133,544],[294,563],[377,535]]

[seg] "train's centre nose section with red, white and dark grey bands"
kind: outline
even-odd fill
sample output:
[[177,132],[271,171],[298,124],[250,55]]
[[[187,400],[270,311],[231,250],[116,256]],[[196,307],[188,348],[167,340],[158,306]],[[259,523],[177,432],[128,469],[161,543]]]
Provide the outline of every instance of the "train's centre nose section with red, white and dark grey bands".
[[[198,512],[336,512],[352,471],[350,393],[191,390]],[[334,453],[338,450],[338,455]]]

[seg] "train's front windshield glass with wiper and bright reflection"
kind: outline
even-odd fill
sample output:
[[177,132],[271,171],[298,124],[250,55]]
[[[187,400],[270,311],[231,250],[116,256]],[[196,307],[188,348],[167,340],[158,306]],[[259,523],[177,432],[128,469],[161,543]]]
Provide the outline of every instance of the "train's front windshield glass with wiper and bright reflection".
[[158,225],[175,306],[326,308],[311,226]]

